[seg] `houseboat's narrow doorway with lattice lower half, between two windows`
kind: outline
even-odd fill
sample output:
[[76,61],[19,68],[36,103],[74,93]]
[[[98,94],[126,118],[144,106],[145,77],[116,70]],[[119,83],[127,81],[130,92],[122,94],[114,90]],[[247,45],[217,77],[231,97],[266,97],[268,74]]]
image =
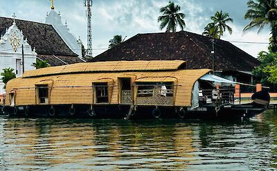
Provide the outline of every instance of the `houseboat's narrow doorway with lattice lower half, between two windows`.
[[120,104],[132,104],[131,78],[118,78],[118,90]]

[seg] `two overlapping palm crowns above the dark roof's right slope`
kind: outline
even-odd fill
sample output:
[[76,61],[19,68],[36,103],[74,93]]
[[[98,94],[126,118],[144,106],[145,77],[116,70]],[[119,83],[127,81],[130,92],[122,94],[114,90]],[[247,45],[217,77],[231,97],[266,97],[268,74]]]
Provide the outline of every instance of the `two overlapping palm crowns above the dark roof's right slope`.
[[207,24],[202,35],[220,39],[226,30],[228,30],[230,35],[232,34],[232,28],[227,25],[227,23],[233,22],[233,19],[229,17],[229,13],[222,12],[222,10],[217,11],[214,16],[211,16],[211,20],[212,22]]

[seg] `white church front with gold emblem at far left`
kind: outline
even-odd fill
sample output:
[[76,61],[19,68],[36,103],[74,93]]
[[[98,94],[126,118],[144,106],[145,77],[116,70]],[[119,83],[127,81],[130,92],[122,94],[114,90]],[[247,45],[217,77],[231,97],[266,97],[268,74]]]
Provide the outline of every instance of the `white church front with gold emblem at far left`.
[[[12,26],[0,38],[0,73],[3,69],[10,67],[15,69],[17,77],[22,75],[22,44],[24,45],[25,71],[35,69],[32,64],[35,63],[37,53],[35,53],[35,49],[32,50],[28,40],[24,39],[22,31],[13,22]],[[0,94],[5,93],[3,85],[3,82],[0,80]]]

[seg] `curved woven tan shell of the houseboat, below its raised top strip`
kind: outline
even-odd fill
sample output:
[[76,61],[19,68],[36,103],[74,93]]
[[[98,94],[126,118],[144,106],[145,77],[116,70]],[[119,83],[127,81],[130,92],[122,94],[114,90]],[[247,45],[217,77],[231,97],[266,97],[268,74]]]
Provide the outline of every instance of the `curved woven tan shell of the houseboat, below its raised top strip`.
[[[50,67],[57,68],[57,67]],[[80,69],[80,68],[79,68]],[[37,71],[39,71],[38,69]],[[60,73],[61,71],[57,71]],[[68,73],[57,75],[41,75],[39,77],[15,78],[8,82],[6,92],[15,93],[15,104],[39,105],[37,102],[37,84],[46,84],[49,91],[48,105],[99,105],[93,101],[95,82],[108,82],[109,104],[118,105],[120,88],[118,78],[132,78],[132,82],[175,82],[175,106],[190,107],[192,89],[195,81],[209,69],[180,69],[175,71],[125,71],[103,73]],[[6,105],[10,105],[10,96],[6,96]],[[151,105],[151,104],[148,104]]]

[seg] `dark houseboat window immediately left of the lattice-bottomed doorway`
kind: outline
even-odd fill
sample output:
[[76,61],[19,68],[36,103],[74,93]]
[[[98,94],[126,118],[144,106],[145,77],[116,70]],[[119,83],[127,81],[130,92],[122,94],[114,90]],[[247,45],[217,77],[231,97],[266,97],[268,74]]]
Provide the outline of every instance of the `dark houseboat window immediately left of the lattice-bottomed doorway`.
[[97,83],[94,84],[96,91],[96,102],[109,102],[108,98],[108,84],[107,83]]

